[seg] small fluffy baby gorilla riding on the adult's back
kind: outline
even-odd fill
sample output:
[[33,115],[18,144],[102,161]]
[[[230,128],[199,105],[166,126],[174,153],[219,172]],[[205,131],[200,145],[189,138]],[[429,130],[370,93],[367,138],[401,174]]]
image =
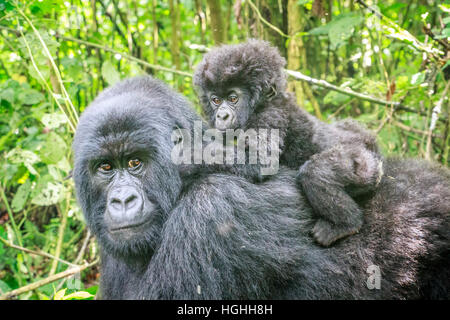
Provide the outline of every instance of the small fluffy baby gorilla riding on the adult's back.
[[[329,246],[359,231],[363,213],[354,199],[379,183],[381,156],[375,137],[356,122],[327,124],[299,108],[285,92],[285,64],[264,41],[225,45],[205,55],[194,84],[215,128],[279,130],[280,164],[300,167],[297,183],[319,216],[313,236]],[[262,166],[256,167],[246,164],[237,173],[261,180]]]

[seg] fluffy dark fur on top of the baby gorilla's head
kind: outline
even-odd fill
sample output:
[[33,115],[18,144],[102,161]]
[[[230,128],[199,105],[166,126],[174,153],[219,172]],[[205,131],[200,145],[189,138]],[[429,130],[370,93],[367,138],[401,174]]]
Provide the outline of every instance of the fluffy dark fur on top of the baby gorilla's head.
[[210,105],[211,91],[233,86],[244,87],[249,92],[249,106],[255,107],[264,101],[262,98],[285,91],[285,65],[278,49],[266,41],[224,45],[205,55],[195,71],[194,85],[204,108]]

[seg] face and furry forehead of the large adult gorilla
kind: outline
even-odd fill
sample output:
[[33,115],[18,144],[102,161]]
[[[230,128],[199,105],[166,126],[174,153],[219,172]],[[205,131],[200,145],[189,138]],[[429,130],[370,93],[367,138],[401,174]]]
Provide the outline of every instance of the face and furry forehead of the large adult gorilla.
[[74,140],[78,200],[100,244],[119,255],[154,249],[181,185],[170,159],[173,120],[148,103],[124,95],[95,104]]

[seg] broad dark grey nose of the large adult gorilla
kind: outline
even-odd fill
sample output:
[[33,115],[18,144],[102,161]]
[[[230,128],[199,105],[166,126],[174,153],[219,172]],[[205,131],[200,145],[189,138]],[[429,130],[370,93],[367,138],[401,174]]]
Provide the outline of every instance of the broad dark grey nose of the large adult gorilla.
[[142,196],[131,186],[113,188],[108,195],[108,213],[116,224],[133,224],[142,213],[143,204]]

